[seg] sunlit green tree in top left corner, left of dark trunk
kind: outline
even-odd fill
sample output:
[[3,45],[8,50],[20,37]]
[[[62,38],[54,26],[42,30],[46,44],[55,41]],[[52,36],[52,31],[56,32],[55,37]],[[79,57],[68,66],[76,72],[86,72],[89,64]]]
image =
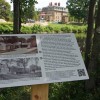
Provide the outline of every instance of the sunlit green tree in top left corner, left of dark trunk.
[[7,21],[10,18],[10,4],[5,0],[0,0],[0,18]]

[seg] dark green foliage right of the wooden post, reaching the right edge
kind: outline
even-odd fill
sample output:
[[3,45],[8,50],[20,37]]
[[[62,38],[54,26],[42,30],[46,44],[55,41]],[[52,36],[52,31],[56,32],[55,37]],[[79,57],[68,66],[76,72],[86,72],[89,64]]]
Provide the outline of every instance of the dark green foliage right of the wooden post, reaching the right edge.
[[100,88],[86,91],[84,82],[64,82],[50,84],[49,100],[99,100]]

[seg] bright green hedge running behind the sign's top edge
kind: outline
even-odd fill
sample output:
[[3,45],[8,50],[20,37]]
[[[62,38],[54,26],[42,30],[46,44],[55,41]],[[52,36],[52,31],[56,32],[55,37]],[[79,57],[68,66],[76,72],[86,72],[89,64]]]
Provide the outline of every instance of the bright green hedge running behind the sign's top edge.
[[[48,25],[40,26],[33,25],[22,26],[21,33],[84,33],[86,32],[86,26],[77,25]],[[10,34],[13,32],[12,23],[1,23],[0,24],[0,34]]]

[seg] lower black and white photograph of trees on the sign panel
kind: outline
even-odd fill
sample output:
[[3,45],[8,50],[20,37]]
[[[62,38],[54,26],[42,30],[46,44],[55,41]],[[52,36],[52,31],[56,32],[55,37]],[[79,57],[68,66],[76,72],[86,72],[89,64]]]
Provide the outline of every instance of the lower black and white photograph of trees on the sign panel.
[[42,77],[38,57],[0,59],[0,80]]

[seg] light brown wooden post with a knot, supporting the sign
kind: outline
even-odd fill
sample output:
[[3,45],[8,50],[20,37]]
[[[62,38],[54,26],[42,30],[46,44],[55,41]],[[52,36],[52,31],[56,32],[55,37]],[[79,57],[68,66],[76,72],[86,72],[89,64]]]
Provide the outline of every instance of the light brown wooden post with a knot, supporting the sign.
[[31,100],[48,100],[48,84],[33,85]]

